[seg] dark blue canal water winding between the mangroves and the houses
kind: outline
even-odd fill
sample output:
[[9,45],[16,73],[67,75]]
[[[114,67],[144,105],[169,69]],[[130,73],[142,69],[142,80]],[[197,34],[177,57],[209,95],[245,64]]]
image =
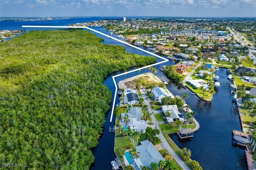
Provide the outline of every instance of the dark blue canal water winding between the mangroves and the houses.
[[[94,28],[105,34],[109,34],[108,31],[102,28]],[[100,34],[96,34],[104,38],[103,43],[108,43],[112,45],[122,45],[126,47],[126,51],[130,53],[138,53],[140,55],[148,55],[143,51],[134,49],[130,46],[124,45],[120,42],[116,42],[110,38],[106,38]],[[113,35],[116,36],[116,35]],[[149,51],[149,48],[142,47]],[[158,61],[161,61],[158,59]],[[175,64],[175,63],[174,63]],[[165,63],[164,65],[172,65],[172,62]],[[168,80],[164,74],[159,70],[160,65],[156,65],[158,73],[156,76],[164,77],[166,81]],[[129,70],[135,69],[130,68]],[[148,70],[143,69],[140,73],[148,72]],[[114,95],[114,83],[112,81],[112,76],[122,73],[122,71],[117,71],[112,73],[104,79],[104,84],[112,90],[112,95]],[[138,72],[127,74],[126,77],[132,77],[138,75]],[[177,136],[172,136],[174,142],[180,147],[187,147],[192,151],[192,159],[197,160],[204,170],[246,170],[246,159],[244,156],[244,149],[237,148],[232,145],[232,129],[241,130],[240,120],[238,117],[238,112],[233,108],[234,103],[232,103],[232,96],[229,95],[229,81],[226,75],[226,69],[220,68],[216,75],[220,77],[220,87],[218,88],[216,94],[212,101],[204,102],[198,99],[195,95],[191,95],[189,89],[184,89],[181,85],[172,83],[168,80],[168,85],[166,86],[174,95],[182,96],[182,93],[189,95],[186,98],[186,103],[190,105],[191,109],[196,111],[196,119],[200,123],[200,129],[194,134],[194,138],[187,141],[179,141]],[[116,82],[123,80],[124,75],[116,77]],[[112,96],[114,98],[114,96]],[[116,99],[118,100],[118,98]],[[231,110],[232,108],[232,110]],[[114,121],[110,123],[110,113],[106,115],[106,122],[104,124],[104,130],[102,137],[99,140],[99,144],[93,150],[95,156],[95,162],[92,165],[92,170],[99,169],[110,169],[110,162],[114,160],[114,134],[109,133],[109,127],[114,126]],[[115,117],[114,117],[115,119]],[[114,120],[113,119],[113,120]]]

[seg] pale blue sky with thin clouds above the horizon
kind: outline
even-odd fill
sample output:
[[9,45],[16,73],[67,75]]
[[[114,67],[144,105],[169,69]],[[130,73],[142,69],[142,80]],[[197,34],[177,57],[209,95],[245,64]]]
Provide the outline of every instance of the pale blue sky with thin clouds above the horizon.
[[256,0],[0,0],[0,17],[256,17]]

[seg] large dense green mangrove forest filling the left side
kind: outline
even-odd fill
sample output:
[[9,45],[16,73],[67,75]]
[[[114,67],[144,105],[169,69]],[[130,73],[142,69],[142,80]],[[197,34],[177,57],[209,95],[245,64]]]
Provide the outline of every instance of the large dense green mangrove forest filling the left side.
[[30,31],[0,44],[0,162],[89,169],[111,91],[109,73],[156,62],[88,31]]

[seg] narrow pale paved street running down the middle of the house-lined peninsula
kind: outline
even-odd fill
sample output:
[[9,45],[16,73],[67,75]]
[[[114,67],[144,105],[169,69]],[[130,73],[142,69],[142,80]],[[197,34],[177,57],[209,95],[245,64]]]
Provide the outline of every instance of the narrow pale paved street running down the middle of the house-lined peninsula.
[[[150,106],[150,102],[148,100],[146,100],[146,95],[144,93],[144,91],[140,90],[142,97],[145,99],[144,103],[146,105],[148,105],[148,111],[149,113],[153,113],[151,106]],[[160,134],[158,135],[158,137],[160,138],[164,148],[166,148],[166,150],[168,150],[168,152],[172,155],[172,157],[174,158],[174,160],[176,160],[176,162],[180,165],[180,167],[183,170],[190,170],[190,168],[188,168],[188,166],[180,159],[180,157],[174,152],[174,150],[172,150],[171,146],[168,144],[168,142],[166,141],[166,139],[164,138],[164,135],[160,129],[159,123],[158,121],[156,121],[156,117],[154,116],[154,114],[151,115],[152,121],[154,123],[154,127],[158,128],[160,130]]]

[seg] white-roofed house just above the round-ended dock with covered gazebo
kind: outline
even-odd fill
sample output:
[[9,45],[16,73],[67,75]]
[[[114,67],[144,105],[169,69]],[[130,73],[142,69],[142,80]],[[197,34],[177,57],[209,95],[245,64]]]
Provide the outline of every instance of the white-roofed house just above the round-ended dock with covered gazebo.
[[161,106],[161,108],[162,108],[162,113],[164,113],[164,115],[166,114],[166,112],[170,113],[170,116],[166,117],[166,121],[168,122],[168,124],[174,123],[176,120],[179,120],[182,123],[184,123],[185,120],[180,114],[177,105],[166,105],[166,106]]

